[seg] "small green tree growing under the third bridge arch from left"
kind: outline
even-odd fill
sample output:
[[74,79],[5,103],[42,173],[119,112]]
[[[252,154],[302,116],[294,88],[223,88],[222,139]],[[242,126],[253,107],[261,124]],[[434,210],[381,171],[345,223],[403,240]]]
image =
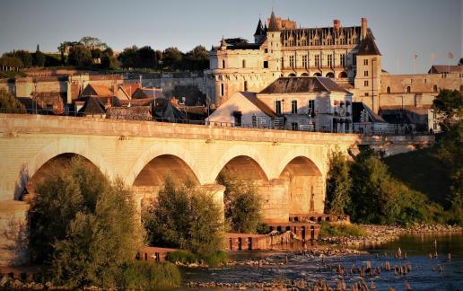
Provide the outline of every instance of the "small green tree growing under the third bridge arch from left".
[[256,233],[262,208],[262,200],[256,186],[252,181],[241,181],[226,175],[220,175],[218,181],[225,186],[225,218],[231,226],[231,231],[242,234]]

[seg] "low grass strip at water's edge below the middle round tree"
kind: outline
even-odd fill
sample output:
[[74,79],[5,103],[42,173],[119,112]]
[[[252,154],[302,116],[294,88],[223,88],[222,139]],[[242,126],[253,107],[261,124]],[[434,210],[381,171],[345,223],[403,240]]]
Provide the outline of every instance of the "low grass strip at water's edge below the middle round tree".
[[214,253],[199,255],[191,251],[173,251],[167,258],[170,262],[181,262],[183,264],[199,263],[204,260],[209,267],[219,267],[228,262],[228,253],[226,251],[215,251]]

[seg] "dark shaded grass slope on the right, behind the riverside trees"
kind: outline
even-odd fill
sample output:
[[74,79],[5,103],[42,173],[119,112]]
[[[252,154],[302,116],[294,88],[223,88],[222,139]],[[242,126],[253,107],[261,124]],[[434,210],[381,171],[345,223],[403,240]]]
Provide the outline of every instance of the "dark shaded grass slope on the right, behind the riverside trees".
[[397,154],[383,159],[389,172],[412,190],[424,193],[432,201],[448,207],[450,172],[437,157],[435,147]]

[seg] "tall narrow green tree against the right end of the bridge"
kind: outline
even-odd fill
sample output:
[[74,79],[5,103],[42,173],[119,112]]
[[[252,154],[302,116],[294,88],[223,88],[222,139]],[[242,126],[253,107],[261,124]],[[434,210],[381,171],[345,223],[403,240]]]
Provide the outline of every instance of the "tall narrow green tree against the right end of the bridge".
[[327,199],[325,207],[328,213],[345,214],[351,207],[350,192],[352,178],[350,164],[345,154],[332,152],[329,157],[329,171],[327,180]]

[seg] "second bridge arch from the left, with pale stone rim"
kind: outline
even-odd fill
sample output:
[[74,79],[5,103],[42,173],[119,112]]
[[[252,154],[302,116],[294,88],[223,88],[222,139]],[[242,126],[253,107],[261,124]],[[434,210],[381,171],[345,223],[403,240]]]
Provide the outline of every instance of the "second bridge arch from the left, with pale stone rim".
[[[195,162],[193,156],[189,154],[188,151],[181,145],[172,143],[168,145],[156,144],[144,151],[144,153],[138,158],[138,160],[135,162],[134,166],[128,173],[126,178],[127,185],[132,186],[135,184],[136,179],[143,178],[143,176],[139,176],[140,174],[146,175],[147,173],[144,171],[153,171],[153,169],[156,169],[156,167],[158,169],[161,169],[160,167],[163,167],[164,170],[168,170],[167,168],[165,168],[165,165],[169,162],[172,163],[172,166],[178,167],[179,171],[185,172],[188,175],[188,178],[190,178],[190,180],[202,184],[202,173],[199,167],[197,166],[197,163]],[[150,167],[152,168],[152,170],[149,169]],[[173,173],[173,175],[175,176],[179,172],[170,172],[168,174],[171,173]]]

